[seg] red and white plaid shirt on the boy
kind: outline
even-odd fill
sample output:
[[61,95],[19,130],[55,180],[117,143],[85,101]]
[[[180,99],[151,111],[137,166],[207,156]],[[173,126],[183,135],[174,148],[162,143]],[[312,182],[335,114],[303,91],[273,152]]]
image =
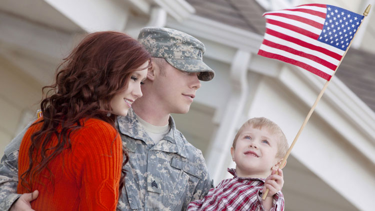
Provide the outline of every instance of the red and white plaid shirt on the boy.
[[[191,201],[187,205],[187,211],[264,210],[261,204],[261,191],[265,179],[237,177],[233,168],[228,168],[228,171],[233,174],[233,178],[222,180],[202,199]],[[281,191],[273,195],[272,204],[271,211],[284,210],[284,197]]]

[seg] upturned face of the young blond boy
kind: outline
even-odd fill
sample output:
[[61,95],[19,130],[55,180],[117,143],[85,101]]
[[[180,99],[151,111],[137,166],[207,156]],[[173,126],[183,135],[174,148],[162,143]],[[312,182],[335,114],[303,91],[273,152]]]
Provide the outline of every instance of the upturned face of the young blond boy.
[[235,148],[230,152],[240,177],[267,177],[281,160],[276,157],[278,139],[266,126],[262,129],[245,127],[239,133]]

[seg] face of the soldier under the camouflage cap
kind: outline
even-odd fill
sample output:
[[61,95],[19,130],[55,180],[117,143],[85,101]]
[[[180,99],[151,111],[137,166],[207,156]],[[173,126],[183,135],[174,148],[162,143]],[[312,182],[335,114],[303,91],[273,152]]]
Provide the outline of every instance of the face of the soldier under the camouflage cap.
[[154,82],[163,108],[168,113],[188,112],[196,90],[201,86],[197,73],[181,71],[169,63],[161,71]]

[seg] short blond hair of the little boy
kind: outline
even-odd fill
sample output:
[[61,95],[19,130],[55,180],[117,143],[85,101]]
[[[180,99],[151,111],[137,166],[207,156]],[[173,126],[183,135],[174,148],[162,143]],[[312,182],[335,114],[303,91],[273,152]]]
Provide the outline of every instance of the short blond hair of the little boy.
[[276,123],[265,117],[250,118],[245,123],[243,123],[234,137],[232,144],[233,148],[235,148],[235,143],[239,136],[239,133],[241,133],[244,128],[249,126],[252,126],[252,128],[257,129],[261,129],[263,126],[265,126],[270,133],[276,135],[278,137],[276,157],[282,158],[285,156],[286,151],[289,148],[285,134],[282,132],[281,128]]

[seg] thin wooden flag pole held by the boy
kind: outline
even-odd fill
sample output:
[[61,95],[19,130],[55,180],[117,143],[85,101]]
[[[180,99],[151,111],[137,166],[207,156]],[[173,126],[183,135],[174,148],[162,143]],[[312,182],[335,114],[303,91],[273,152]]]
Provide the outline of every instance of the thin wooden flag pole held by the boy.
[[[363,16],[367,16],[367,15],[368,15],[368,12],[370,11],[370,8],[371,8],[371,4],[368,4],[368,6],[366,7],[366,9],[365,9],[364,12],[363,12]],[[363,17],[363,20],[364,20],[364,17]],[[359,24],[359,26],[358,26],[356,32],[358,32],[359,27],[360,27],[360,25],[362,24],[363,20],[360,22],[360,24]],[[354,33],[353,38],[351,39],[349,45],[347,46],[347,48],[346,48],[344,54],[343,54],[342,57],[341,57],[340,62],[338,63],[338,65],[337,65],[336,69],[334,70],[334,72],[333,72],[333,74],[332,74],[332,76],[331,76],[330,79],[332,79],[334,73],[336,73],[336,70],[337,70],[338,66],[341,64],[341,61],[342,61],[342,59],[344,58],[344,56],[345,56],[347,50],[350,48],[351,42],[353,41],[356,32]],[[308,119],[310,118],[312,112],[314,111],[314,109],[315,109],[315,107],[316,107],[317,102],[320,100],[320,98],[321,98],[321,96],[323,95],[325,89],[327,88],[330,79],[327,80],[327,81],[325,82],[325,84],[324,84],[323,88],[321,89],[319,95],[317,95],[314,104],[312,105],[310,111],[308,111],[307,116],[306,116],[306,118],[304,119],[304,121],[303,121],[301,127],[299,128],[299,130],[298,130],[298,132],[297,132],[297,134],[295,135],[293,142],[290,144],[289,149],[286,151],[286,154],[285,154],[284,158],[282,159],[281,164],[279,165],[279,168],[283,168],[284,165],[286,164],[286,159],[288,158],[288,156],[289,156],[289,154],[290,154],[290,152],[291,152],[291,149],[293,148],[295,142],[297,142],[297,139],[298,139],[300,133],[302,132],[302,129],[303,129],[304,126],[306,125]],[[276,171],[276,174],[278,174],[278,171]],[[268,191],[269,191],[269,189],[267,188],[267,189],[265,190],[264,194],[262,195],[261,198],[262,198],[263,200],[265,199],[265,197],[267,197],[267,195],[268,195]]]

